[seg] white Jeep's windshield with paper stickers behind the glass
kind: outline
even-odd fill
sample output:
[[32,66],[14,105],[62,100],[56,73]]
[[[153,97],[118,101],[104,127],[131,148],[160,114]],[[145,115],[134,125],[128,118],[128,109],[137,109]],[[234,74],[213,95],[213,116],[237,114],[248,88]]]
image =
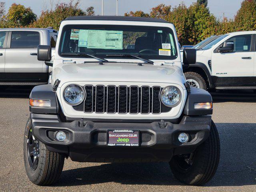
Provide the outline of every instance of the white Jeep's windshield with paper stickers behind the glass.
[[58,54],[70,57],[69,53],[74,53],[72,57],[90,54],[100,58],[116,58],[120,54],[129,54],[165,60],[178,56],[171,28],[124,25],[64,26]]

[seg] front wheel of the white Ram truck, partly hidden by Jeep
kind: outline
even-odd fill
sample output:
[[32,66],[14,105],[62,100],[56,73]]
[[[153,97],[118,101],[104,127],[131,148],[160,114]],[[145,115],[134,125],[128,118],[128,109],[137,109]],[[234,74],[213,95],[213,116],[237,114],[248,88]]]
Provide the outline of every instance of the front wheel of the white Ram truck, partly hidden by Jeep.
[[184,75],[190,87],[207,90],[206,82],[200,74],[196,72],[186,72]]

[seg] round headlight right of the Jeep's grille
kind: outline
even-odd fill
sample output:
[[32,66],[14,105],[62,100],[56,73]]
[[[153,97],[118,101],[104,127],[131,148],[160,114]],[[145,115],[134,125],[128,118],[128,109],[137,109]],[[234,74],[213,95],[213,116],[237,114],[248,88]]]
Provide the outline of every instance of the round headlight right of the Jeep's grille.
[[161,92],[161,101],[167,107],[175,107],[180,103],[181,92],[174,86],[168,86]]

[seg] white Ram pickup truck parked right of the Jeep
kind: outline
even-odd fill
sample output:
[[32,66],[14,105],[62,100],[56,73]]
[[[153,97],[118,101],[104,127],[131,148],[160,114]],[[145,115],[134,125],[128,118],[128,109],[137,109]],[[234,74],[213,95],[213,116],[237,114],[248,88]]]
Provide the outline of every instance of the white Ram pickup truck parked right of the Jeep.
[[256,90],[256,31],[220,36],[196,51],[196,64],[184,67],[190,86]]

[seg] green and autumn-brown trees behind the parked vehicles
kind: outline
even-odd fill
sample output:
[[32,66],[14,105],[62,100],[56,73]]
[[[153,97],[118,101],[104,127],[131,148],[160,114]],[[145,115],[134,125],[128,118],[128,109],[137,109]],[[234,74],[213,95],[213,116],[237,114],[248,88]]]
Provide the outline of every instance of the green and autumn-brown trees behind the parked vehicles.
[[[234,19],[217,19],[207,8],[208,0],[197,0],[190,6],[181,3],[178,6],[159,4],[149,13],[141,10],[130,11],[125,16],[162,18],[176,27],[181,44],[196,44],[203,39],[218,34],[234,31],[256,30],[256,0],[243,0],[241,8]],[[30,7],[21,4],[12,4],[5,13],[5,3],[0,2],[0,28],[14,27],[54,27],[58,30],[60,22],[69,16],[94,15],[94,8],[85,10],[80,8],[79,0],[70,0],[69,3],[58,3],[55,8],[44,10],[39,18]],[[141,34],[138,34],[141,35]],[[134,40],[136,35],[134,36]]]

